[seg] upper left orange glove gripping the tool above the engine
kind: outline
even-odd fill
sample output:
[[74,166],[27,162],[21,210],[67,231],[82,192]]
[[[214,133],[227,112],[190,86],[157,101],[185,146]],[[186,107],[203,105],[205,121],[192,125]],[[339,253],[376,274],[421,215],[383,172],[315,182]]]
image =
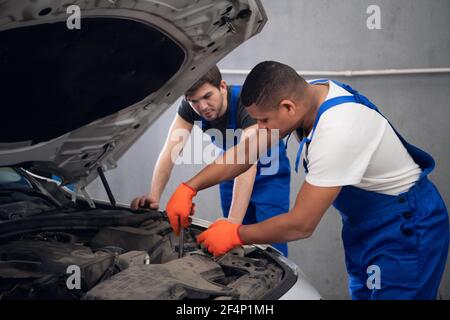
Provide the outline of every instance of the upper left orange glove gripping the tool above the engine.
[[196,194],[196,190],[183,182],[178,186],[177,190],[175,190],[167,203],[167,217],[169,218],[170,225],[176,235],[180,234],[178,219],[183,228],[189,227],[189,216],[194,214],[195,209],[192,198],[194,198]]

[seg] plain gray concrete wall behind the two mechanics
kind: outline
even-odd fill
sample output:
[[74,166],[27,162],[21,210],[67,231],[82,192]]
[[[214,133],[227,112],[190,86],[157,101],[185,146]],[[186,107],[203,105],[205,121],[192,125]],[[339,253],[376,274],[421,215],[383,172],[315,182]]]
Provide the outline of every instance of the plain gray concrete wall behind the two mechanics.
[[[361,70],[388,68],[450,67],[450,1],[448,0],[277,0],[262,1],[269,17],[263,32],[237,48],[219,66],[251,69],[262,60],[278,60],[297,70]],[[381,30],[366,27],[369,5],[381,8]],[[230,83],[243,77],[225,76]],[[450,204],[450,75],[377,76],[335,78],[354,86],[377,104],[410,142],[436,159],[432,174],[447,205]],[[108,172],[119,201],[129,202],[146,193],[152,168],[176,112],[170,108]],[[293,163],[298,144],[292,139],[288,153]],[[200,166],[178,166],[162,203],[176,186]],[[292,179],[293,203],[303,181]],[[98,181],[91,193],[106,199]],[[216,187],[196,199],[198,216],[214,220],[221,214]],[[340,240],[341,221],[328,210],[314,235],[290,243],[290,258],[310,278],[324,298],[348,299],[347,275]],[[450,266],[440,296],[450,299]]]

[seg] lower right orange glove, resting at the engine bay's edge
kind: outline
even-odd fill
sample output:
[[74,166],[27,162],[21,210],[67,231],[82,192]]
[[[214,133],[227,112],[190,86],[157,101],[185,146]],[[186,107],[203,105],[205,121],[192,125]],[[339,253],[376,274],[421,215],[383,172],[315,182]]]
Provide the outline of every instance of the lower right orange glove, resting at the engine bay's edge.
[[240,226],[229,220],[216,221],[197,236],[197,243],[203,244],[214,256],[221,256],[244,244],[239,236]]

